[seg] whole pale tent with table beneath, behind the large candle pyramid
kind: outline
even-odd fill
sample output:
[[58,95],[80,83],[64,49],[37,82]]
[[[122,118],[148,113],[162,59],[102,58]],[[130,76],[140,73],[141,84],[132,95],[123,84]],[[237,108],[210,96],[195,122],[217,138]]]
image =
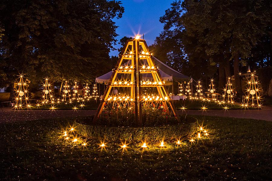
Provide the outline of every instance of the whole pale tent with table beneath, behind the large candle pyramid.
[[[155,65],[158,67],[160,75],[164,81],[164,84],[166,85],[167,89],[168,89],[168,93],[170,94],[171,99],[173,100],[180,100],[180,99],[186,99],[186,96],[181,96],[181,94],[179,94],[179,87],[180,85],[183,85],[184,82],[188,83],[188,82],[192,82],[192,78],[188,77],[186,75],[181,74],[180,72],[174,70],[173,68],[167,66],[166,64],[164,64],[163,62],[161,62],[159,59],[157,59],[156,57],[153,56],[154,59],[154,63]],[[126,63],[124,63],[122,66],[125,68],[126,66],[130,66],[131,65],[131,61],[128,61]],[[144,62],[143,62],[144,65]],[[112,71],[100,76],[96,78],[96,82],[99,84],[108,84],[111,76],[112,76]],[[126,79],[126,77],[124,77],[125,75],[118,75],[117,79],[119,80],[124,80]],[[142,82],[153,82],[153,77],[151,74],[141,74],[141,81]],[[123,90],[124,89],[124,90]],[[152,92],[152,87],[146,87],[142,89],[142,94],[149,94],[150,92]],[[120,87],[118,90],[119,94],[122,94],[122,92],[126,92],[125,88]],[[175,96],[176,94],[176,96]]]

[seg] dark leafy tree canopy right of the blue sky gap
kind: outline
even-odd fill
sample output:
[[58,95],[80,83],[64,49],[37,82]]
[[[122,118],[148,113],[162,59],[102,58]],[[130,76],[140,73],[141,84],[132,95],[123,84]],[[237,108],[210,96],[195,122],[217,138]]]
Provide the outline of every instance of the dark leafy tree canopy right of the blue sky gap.
[[160,18],[164,31],[153,45],[154,54],[162,53],[167,64],[194,78],[219,69],[221,81],[230,72],[238,80],[239,63],[254,59],[258,65],[271,65],[270,1],[184,0],[171,5]]

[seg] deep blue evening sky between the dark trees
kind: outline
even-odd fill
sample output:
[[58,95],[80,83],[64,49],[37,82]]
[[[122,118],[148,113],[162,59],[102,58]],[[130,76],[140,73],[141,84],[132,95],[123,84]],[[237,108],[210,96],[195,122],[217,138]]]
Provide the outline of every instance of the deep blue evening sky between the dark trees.
[[[165,10],[171,7],[174,0],[121,0],[125,13],[122,18],[114,19],[119,26],[116,39],[124,37],[135,37],[136,34],[143,34],[147,45],[154,43],[154,40],[163,30],[163,24],[159,19],[165,14]],[[120,48],[120,44],[114,47]],[[111,51],[110,56],[118,56],[118,51]]]

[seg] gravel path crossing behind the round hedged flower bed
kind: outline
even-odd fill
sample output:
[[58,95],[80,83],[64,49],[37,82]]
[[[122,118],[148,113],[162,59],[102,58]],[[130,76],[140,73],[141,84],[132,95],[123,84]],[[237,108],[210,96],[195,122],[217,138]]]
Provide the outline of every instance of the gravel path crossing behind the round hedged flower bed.
[[[224,116],[235,118],[261,119],[272,121],[272,107],[264,106],[262,110],[184,110],[178,111],[179,114]],[[0,109],[0,122],[12,121],[31,121],[35,119],[64,118],[73,116],[91,116],[95,110],[12,110],[11,108]]]

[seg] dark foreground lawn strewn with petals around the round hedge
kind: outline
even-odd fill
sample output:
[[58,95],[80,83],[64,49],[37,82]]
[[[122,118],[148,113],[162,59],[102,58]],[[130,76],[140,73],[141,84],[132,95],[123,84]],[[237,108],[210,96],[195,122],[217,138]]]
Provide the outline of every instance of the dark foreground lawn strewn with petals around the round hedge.
[[[61,130],[73,119],[2,123],[0,180],[270,180],[272,122],[195,116],[209,138],[190,144],[184,138],[159,143],[130,143],[88,139],[87,148],[64,141]],[[71,136],[71,135],[70,135]],[[75,136],[75,133],[74,133]],[[170,142],[168,142],[170,141]],[[147,141],[148,142],[148,141]]]

